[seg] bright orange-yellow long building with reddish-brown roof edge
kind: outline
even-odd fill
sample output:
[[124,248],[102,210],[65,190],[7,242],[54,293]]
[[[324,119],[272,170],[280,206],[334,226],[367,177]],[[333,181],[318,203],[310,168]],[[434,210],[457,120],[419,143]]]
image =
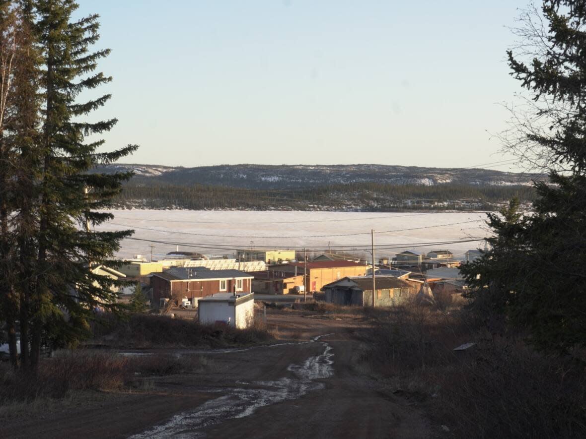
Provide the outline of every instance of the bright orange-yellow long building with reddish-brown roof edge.
[[303,275],[306,269],[305,289],[320,291],[328,283],[346,276],[364,276],[369,267],[350,260],[324,260],[311,262],[292,262],[283,265],[273,265],[270,270],[286,271]]

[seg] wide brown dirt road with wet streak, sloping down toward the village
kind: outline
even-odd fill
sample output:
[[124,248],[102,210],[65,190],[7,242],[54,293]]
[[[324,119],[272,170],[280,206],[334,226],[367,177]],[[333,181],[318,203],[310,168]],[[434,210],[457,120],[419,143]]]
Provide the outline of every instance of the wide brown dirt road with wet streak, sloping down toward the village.
[[[0,423],[3,438],[425,438],[417,403],[359,361],[360,315],[268,312],[274,345],[197,356],[195,373],[133,393],[84,393]],[[203,359],[202,359],[203,358]]]

